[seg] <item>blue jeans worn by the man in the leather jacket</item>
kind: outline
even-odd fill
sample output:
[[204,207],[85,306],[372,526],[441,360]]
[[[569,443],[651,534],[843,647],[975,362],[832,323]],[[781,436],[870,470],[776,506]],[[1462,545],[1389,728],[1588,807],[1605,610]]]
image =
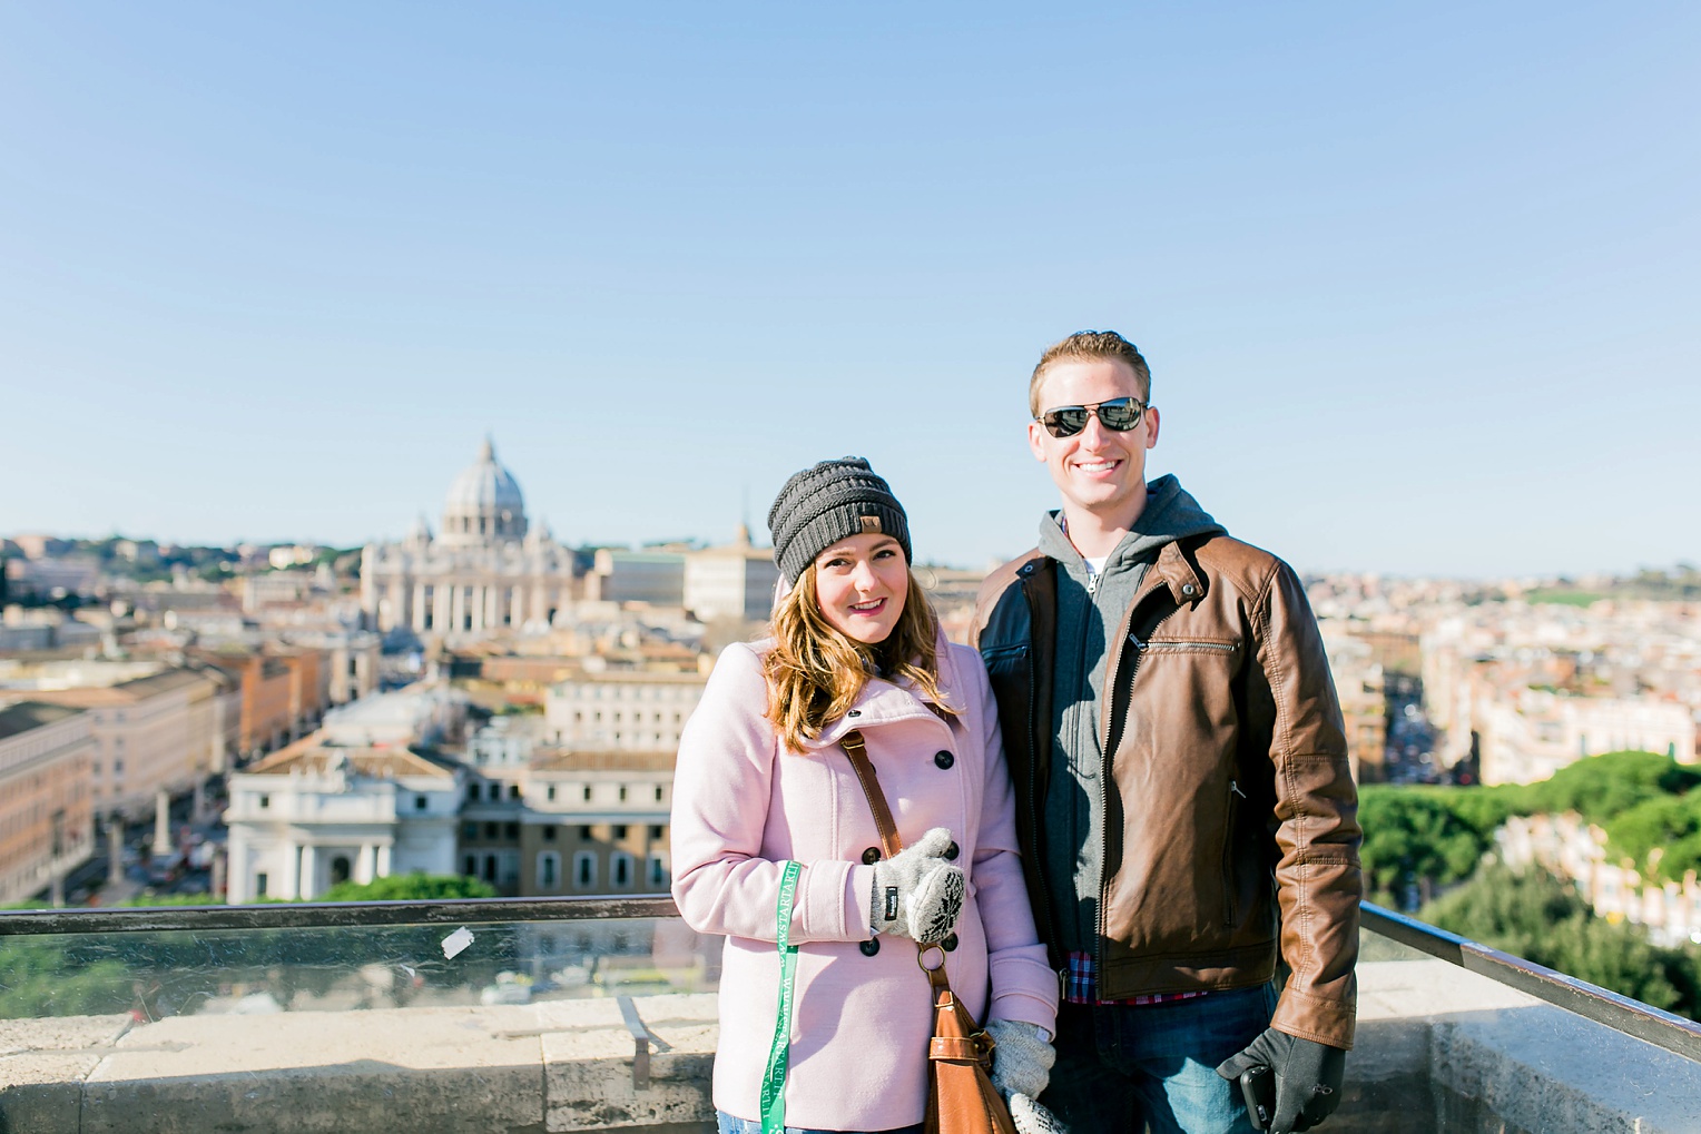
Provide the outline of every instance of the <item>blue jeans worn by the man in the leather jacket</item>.
[[1274,984],[1167,1005],[1061,1005],[1056,1066],[1039,1097],[1072,1134],[1254,1134],[1240,1085],[1216,1064],[1259,1037]]

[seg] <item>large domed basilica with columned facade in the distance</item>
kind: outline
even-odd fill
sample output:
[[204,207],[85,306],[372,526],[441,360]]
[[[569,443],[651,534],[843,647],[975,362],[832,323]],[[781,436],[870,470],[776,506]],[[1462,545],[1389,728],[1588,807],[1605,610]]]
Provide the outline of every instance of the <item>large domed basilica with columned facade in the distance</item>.
[[488,634],[541,629],[582,597],[572,549],[526,520],[519,481],[485,440],[478,461],[449,486],[442,530],[425,519],[398,544],[367,544],[361,609],[379,631]]

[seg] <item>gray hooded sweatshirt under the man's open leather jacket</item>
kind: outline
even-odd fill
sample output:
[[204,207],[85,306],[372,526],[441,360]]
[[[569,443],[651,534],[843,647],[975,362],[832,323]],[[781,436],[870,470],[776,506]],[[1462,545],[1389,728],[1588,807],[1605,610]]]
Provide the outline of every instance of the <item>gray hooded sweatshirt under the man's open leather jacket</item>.
[[[1039,551],[1058,561],[1058,649],[1053,682],[1051,777],[1046,785],[1043,870],[1058,910],[1058,947],[1092,952],[1099,933],[1104,872],[1104,670],[1140,583],[1163,544],[1226,534],[1174,476],[1146,485],[1146,507],[1133,530],[1089,581],[1087,563],[1063,532],[1061,512],[1039,522]],[[1138,801],[1124,801],[1138,806]],[[1070,916],[1073,911],[1073,916]]]

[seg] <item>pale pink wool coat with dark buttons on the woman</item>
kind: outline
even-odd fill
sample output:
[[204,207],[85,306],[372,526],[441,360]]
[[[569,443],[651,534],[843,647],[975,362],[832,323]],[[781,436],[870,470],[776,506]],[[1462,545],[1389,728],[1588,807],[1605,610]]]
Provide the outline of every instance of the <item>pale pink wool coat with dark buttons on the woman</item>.
[[[714,1105],[760,1117],[779,1001],[776,901],[782,864],[803,865],[791,916],[798,984],[786,1125],[881,1131],[920,1122],[932,998],[915,944],[879,935],[864,955],[879,845],[839,740],[861,729],[908,847],[951,830],[968,869],[951,988],[976,1020],[1051,1032],[1058,978],[1034,932],[1015,850],[1014,794],[980,655],[939,643],[946,723],[919,692],[871,678],[856,707],[799,755],[764,719],[762,646],[730,646],[686,726],[674,777],[674,898],[701,933],[725,933]],[[988,1008],[990,1001],[990,1008]]]

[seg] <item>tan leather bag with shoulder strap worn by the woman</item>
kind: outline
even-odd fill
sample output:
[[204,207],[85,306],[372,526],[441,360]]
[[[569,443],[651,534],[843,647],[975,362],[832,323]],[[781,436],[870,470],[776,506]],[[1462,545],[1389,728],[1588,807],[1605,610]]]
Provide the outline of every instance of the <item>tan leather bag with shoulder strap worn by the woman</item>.
[[[856,729],[845,733],[840,743],[874,813],[881,853],[890,859],[903,850],[903,842],[874,777],[868,745]],[[1010,1110],[988,1076],[992,1037],[975,1025],[968,1008],[951,991],[946,950],[939,945],[917,945],[917,950],[915,962],[927,972],[934,995],[934,1039],[927,1046],[927,1134],[1015,1134]]]

